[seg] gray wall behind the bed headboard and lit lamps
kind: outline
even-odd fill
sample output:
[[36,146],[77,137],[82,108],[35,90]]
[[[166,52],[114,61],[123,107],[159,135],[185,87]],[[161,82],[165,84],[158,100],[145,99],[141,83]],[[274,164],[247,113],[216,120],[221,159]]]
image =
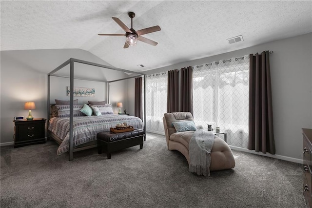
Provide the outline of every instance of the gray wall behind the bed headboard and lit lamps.
[[[23,109],[26,101],[34,101],[36,104],[36,109],[32,110],[34,118],[47,118],[47,73],[69,58],[110,65],[93,54],[80,49],[0,52],[1,145],[13,144],[13,117],[26,117],[28,115],[28,110]],[[98,67],[80,63],[75,63],[74,66],[76,77],[107,81],[128,77],[123,72],[108,69],[101,70]],[[59,74],[66,75],[68,72],[69,67],[61,70]],[[69,97],[66,96],[66,86],[69,86],[68,79],[51,77],[51,103],[54,103],[54,99],[69,100]],[[94,87],[96,89],[95,97],[74,97],[74,99],[79,100],[80,104],[86,103],[88,100],[103,101],[107,98],[105,83],[75,80],[74,86]],[[116,107],[117,102],[122,102],[124,107],[127,107],[128,91],[125,90],[127,86],[127,80],[111,83],[110,103],[116,113],[118,112]]]

